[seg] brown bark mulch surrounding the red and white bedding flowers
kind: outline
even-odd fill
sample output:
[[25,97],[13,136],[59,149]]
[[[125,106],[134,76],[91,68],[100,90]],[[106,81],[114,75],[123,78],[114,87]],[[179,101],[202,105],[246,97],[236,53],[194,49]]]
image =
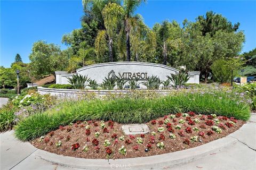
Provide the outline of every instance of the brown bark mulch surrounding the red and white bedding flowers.
[[[226,130],[222,129],[222,132],[219,134],[215,131],[213,131],[212,135],[207,135],[207,131],[212,130],[212,126],[206,125],[205,121],[210,120],[209,118],[205,118],[205,120],[200,120],[199,115],[195,115],[190,117],[191,120],[194,120],[195,118],[198,118],[201,122],[195,123],[195,125],[189,125],[188,121],[186,121],[186,117],[178,117],[171,119],[169,116],[168,118],[170,119],[170,123],[172,125],[172,128],[174,129],[173,134],[175,134],[176,139],[171,139],[169,138],[169,134],[171,132],[167,131],[166,124],[159,124],[159,121],[164,121],[164,117],[158,118],[156,120],[156,124],[151,124],[151,121],[146,123],[149,126],[150,133],[145,134],[145,137],[143,139],[142,144],[138,144],[137,137],[140,137],[140,134],[134,135],[135,139],[131,139],[129,135],[125,135],[123,131],[121,130],[121,124],[114,123],[113,128],[111,128],[108,125],[108,122],[105,122],[105,126],[109,133],[103,133],[103,129],[100,126],[100,121],[87,121],[87,122],[80,122],[78,121],[77,123],[73,125],[67,125],[64,126],[61,129],[57,129],[55,131],[49,132],[48,134],[45,135],[44,139],[40,141],[40,138],[34,139],[30,141],[35,147],[46,150],[58,155],[64,155],[64,156],[72,156],[72,157],[79,157],[79,158],[92,158],[92,159],[105,159],[105,158],[111,158],[111,159],[118,159],[118,158],[133,158],[133,157],[145,157],[145,156],[152,156],[152,155],[159,155],[159,154],[165,154],[169,152],[175,152],[183,149],[189,149],[193,147],[197,147],[200,145],[203,145],[205,143],[211,142],[216,139],[220,139],[222,137],[226,137],[226,135],[238,130],[241,128],[241,126],[245,123],[244,121],[238,120],[237,123],[234,124],[233,127],[228,128],[227,125],[225,125],[226,122],[229,122],[230,120],[228,119],[227,121],[221,120],[222,116],[218,116],[217,118],[220,120],[220,123],[222,123]],[[180,118],[185,120],[185,123],[179,123]],[[176,120],[176,122],[174,122]],[[213,118],[214,120],[214,118]],[[98,126],[94,126],[95,124],[98,124]],[[180,137],[178,132],[180,130],[175,129],[175,125],[180,125],[181,130],[183,130],[185,137]],[[199,128],[200,125],[204,124],[206,126],[206,129]],[[90,135],[86,135],[85,131],[85,126],[89,125],[90,126]],[[215,124],[218,125],[218,124]],[[157,132],[157,129],[159,126],[164,127],[163,132]],[[199,132],[192,130],[192,133],[187,133],[186,128],[194,128],[197,127],[199,129],[199,132],[204,132],[205,137],[201,137],[198,135]],[[67,129],[71,130],[68,131]],[[145,151],[146,145],[150,143],[149,138],[151,137],[151,132],[154,131],[156,132],[156,135],[154,136],[155,138],[155,143],[151,143],[152,148],[149,149],[148,152]],[[100,135],[98,138],[94,136],[95,132],[100,132]],[[163,134],[165,137],[165,140],[160,140],[159,136],[160,134]],[[114,139],[111,138],[111,135],[117,134],[117,141],[114,145]],[[124,135],[124,140],[121,141],[118,138]],[[197,135],[198,136],[198,141],[193,142],[190,140],[191,137]],[[70,139],[67,139],[69,136]],[[97,139],[99,141],[99,151],[95,151],[95,146],[93,146],[92,140]],[[106,147],[103,146],[103,143],[105,140],[109,140],[111,142],[111,145],[109,148],[113,152],[111,155],[107,155],[106,153]],[[125,140],[130,139],[131,144],[125,143]],[[184,139],[188,139],[190,141],[189,145],[183,143]],[[47,141],[49,140],[49,141]],[[200,141],[199,141],[200,140]],[[62,145],[60,147],[56,146],[56,143],[58,141],[62,142]],[[158,142],[164,142],[164,149],[159,149],[157,148],[157,143]],[[75,143],[79,143],[79,148],[76,150],[72,150],[71,146]],[[87,145],[89,150],[87,152],[83,151],[83,147]],[[121,155],[118,152],[118,149],[122,147],[122,145],[127,149],[125,155]],[[134,146],[138,146],[138,150],[134,150]]]

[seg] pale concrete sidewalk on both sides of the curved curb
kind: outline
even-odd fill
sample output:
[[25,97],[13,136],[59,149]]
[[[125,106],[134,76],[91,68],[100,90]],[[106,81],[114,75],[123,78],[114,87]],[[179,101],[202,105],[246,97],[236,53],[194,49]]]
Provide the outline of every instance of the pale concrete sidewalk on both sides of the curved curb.
[[[221,148],[219,151],[192,162],[164,167],[164,169],[256,169],[256,114],[252,114],[247,124],[229,136],[237,140],[234,145]],[[28,142],[15,139],[13,131],[1,133],[0,138],[0,169],[77,169],[53,164],[39,158],[36,154],[39,150],[37,151]],[[159,155],[160,158],[161,155]],[[124,167],[120,168],[124,169]]]

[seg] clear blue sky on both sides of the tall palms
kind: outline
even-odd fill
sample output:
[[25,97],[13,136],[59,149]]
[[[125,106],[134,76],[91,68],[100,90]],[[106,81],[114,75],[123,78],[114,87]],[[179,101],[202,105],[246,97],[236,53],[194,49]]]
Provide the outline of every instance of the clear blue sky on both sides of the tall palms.
[[[37,40],[65,49],[61,44],[62,35],[81,27],[81,1],[0,0],[0,7],[0,65],[5,67],[10,67],[17,53],[28,63],[31,47]],[[180,24],[185,18],[195,21],[198,15],[210,10],[221,13],[233,23],[241,23],[239,29],[246,36],[244,52],[256,47],[256,1],[147,1],[137,12],[152,27],[163,20],[176,20]]]

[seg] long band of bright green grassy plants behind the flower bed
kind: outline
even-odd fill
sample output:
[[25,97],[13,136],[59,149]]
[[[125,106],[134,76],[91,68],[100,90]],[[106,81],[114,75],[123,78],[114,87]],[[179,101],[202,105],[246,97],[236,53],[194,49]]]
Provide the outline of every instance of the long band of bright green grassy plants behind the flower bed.
[[60,109],[53,108],[35,114],[15,126],[15,136],[20,140],[40,137],[60,125],[77,120],[103,120],[118,123],[145,123],[167,114],[193,111],[198,114],[216,114],[248,120],[250,107],[237,103],[222,94],[181,93],[154,99],[118,98],[114,100],[66,101]]

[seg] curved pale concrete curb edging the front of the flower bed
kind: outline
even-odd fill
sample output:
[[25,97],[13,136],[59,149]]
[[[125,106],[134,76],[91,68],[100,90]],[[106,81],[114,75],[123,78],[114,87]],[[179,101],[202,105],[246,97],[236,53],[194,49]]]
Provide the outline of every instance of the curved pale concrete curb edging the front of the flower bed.
[[[233,132],[235,133],[235,132]],[[231,133],[232,134],[232,133]],[[229,134],[229,135],[231,135]],[[148,157],[126,158],[126,159],[84,159],[53,154],[41,149],[35,151],[35,155],[48,162],[61,166],[79,169],[154,169],[167,168],[174,165],[185,164],[202,158],[212,152],[233,145],[237,142],[235,138],[227,135],[218,140],[186,150],[171,152],[168,154],[154,155]]]

